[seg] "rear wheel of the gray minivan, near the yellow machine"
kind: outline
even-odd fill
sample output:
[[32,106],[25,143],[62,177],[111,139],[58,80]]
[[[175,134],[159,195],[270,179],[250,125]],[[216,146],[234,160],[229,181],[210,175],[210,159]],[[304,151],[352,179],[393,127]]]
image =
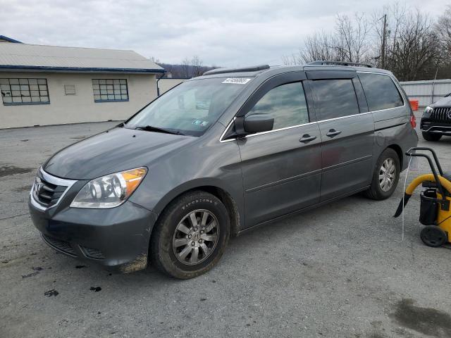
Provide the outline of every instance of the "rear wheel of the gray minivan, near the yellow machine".
[[[383,184],[381,182],[383,178],[380,180],[380,175],[384,175],[385,173],[383,171],[383,166],[384,168],[392,168],[390,164],[393,165],[394,171],[392,173],[391,169],[388,170],[389,173],[392,174],[385,178],[385,183],[388,182],[388,184]],[[376,199],[378,201],[388,199],[388,197],[392,196],[393,192],[395,192],[397,182],[400,179],[400,169],[400,158],[397,156],[396,151],[390,148],[385,149],[376,162],[373,178],[371,180],[371,187],[366,190],[365,195],[370,199]],[[391,180],[388,180],[389,177],[391,177]]]

